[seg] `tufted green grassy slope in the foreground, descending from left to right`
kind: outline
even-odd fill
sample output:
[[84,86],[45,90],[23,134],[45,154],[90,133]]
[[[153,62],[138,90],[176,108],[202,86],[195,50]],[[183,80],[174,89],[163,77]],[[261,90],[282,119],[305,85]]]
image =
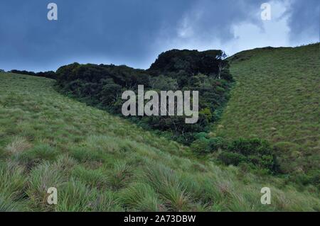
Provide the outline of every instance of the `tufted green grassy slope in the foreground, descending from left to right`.
[[[312,187],[194,159],[53,84],[0,73],[0,210],[320,210]],[[260,203],[265,186],[271,205]],[[47,204],[49,187],[58,205]]]

